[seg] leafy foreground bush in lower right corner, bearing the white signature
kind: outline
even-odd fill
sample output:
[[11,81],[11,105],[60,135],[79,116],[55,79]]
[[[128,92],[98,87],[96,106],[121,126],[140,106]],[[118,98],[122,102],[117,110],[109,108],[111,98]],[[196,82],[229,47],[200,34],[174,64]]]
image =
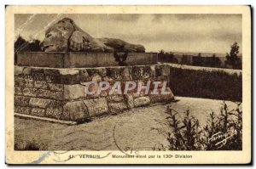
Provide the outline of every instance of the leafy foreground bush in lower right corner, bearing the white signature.
[[[167,117],[172,132],[168,132],[169,145],[160,145],[158,150],[241,150],[242,149],[242,111],[237,104],[236,110],[229,110],[223,104],[220,115],[212,113],[207,119],[207,125],[201,127],[200,121],[190,115],[189,110],[183,120],[179,114],[167,106]],[[226,134],[226,135],[225,135]],[[224,138],[228,139],[225,140]]]

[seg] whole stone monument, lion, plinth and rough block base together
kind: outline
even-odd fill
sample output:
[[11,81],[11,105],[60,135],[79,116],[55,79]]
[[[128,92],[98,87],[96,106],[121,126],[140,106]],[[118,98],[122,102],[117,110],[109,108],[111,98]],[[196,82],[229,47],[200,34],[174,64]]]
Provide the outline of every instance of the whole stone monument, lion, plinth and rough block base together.
[[[73,20],[63,19],[45,33],[44,53],[19,53],[15,66],[15,115],[47,121],[90,121],[98,115],[116,115],[124,110],[174,99],[170,89],[170,66],[158,65],[157,54],[144,53],[142,45],[119,39],[90,37]],[[57,51],[57,52],[56,52]],[[125,61],[117,60],[116,54]],[[119,63],[125,63],[120,66]],[[137,93],[108,94],[98,90],[99,82],[146,84],[166,83],[168,94]],[[121,89],[123,92],[123,88]]]

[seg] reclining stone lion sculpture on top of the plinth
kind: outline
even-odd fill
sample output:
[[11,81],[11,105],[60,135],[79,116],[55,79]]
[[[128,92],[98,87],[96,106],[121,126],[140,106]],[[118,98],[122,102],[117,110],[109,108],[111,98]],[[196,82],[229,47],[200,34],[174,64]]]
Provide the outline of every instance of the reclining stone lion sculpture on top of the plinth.
[[91,37],[69,18],[49,27],[45,32],[43,49],[45,52],[145,52],[143,45],[115,38]]

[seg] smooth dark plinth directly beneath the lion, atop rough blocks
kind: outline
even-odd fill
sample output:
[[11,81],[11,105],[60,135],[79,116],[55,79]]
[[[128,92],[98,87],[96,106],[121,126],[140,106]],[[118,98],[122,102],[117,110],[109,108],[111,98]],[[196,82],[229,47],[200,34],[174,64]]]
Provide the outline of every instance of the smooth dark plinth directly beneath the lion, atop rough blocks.
[[[122,53],[119,54],[120,56]],[[113,53],[87,52],[20,52],[17,56],[17,65],[51,68],[88,68],[118,66]],[[128,53],[126,65],[153,65],[157,64],[156,53]]]

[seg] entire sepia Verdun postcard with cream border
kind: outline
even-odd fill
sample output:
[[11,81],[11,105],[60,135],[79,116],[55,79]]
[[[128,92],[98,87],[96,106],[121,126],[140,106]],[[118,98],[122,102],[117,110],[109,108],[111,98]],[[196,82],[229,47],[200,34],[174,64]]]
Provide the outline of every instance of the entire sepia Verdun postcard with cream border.
[[6,14],[7,149],[26,164],[251,161],[248,6],[46,8]]

